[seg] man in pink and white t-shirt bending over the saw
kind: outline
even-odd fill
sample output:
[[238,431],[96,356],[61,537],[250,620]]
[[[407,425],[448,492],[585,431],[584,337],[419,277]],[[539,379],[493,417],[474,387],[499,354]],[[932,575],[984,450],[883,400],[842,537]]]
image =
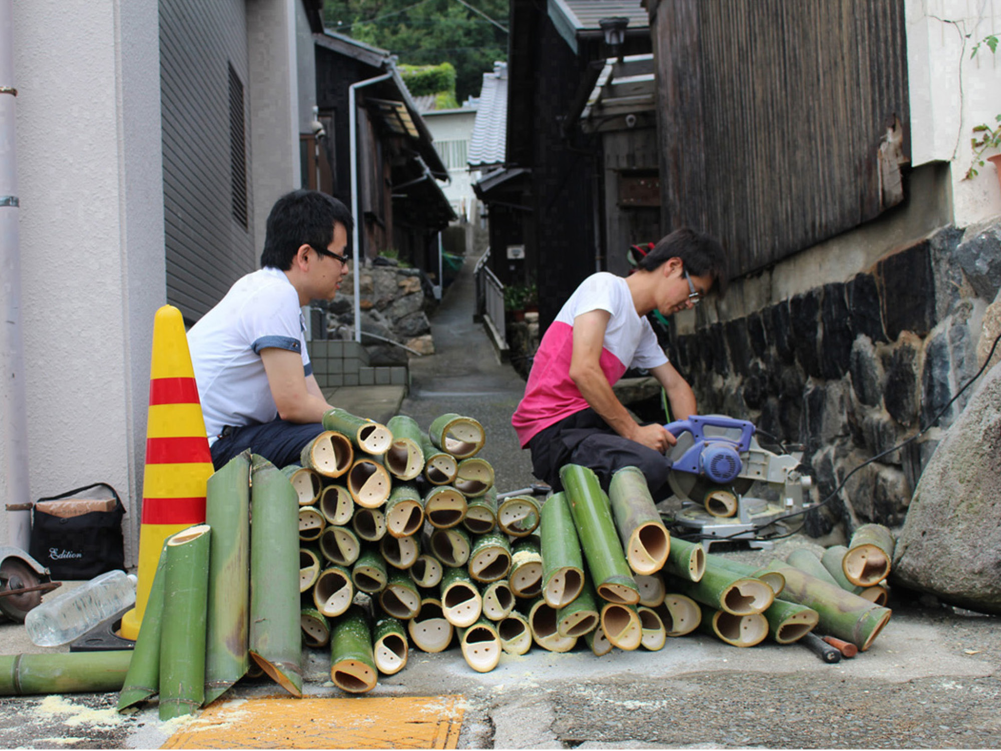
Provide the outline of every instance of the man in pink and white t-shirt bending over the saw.
[[546,330],[512,418],[536,477],[559,490],[560,468],[578,464],[608,489],[616,470],[639,467],[655,500],[668,495],[664,454],[675,438],[661,425],[639,425],[612,387],[630,367],[643,367],[664,387],[676,420],[695,414],[695,394],[646,316],[692,307],[726,281],[720,243],[682,228],[658,242],[631,276],[603,271],[581,283]]

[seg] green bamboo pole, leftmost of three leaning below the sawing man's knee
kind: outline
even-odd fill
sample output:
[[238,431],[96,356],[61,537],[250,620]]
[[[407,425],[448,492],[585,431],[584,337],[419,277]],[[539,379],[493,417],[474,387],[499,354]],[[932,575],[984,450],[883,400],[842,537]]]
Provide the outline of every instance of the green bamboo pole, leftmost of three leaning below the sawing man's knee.
[[566,608],[584,588],[584,556],[574,518],[563,493],[555,493],[540,513],[543,597],[553,608]]

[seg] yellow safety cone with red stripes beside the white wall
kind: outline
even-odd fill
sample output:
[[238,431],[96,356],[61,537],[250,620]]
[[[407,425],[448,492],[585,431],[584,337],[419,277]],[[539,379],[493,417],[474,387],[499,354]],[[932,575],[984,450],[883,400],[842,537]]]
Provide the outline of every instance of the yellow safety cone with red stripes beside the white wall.
[[173,305],[164,305],[153,320],[139,581],[135,608],[122,618],[123,638],[139,636],[164,541],[204,523],[205,488],[212,472],[184,318]]

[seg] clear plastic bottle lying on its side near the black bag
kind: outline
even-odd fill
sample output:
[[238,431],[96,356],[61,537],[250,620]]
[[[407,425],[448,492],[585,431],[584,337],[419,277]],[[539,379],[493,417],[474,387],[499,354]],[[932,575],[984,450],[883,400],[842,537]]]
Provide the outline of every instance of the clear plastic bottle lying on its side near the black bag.
[[109,571],[28,611],[24,627],[39,647],[58,647],[77,639],[135,603],[136,578]]

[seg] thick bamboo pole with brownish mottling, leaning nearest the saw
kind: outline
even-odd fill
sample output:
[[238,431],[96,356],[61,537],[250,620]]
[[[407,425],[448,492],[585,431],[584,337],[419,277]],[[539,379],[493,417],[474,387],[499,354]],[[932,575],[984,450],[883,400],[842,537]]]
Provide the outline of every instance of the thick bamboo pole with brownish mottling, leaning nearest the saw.
[[647,478],[636,467],[624,467],[612,476],[609,502],[626,561],[636,574],[656,574],[664,568],[671,536],[647,487]]

